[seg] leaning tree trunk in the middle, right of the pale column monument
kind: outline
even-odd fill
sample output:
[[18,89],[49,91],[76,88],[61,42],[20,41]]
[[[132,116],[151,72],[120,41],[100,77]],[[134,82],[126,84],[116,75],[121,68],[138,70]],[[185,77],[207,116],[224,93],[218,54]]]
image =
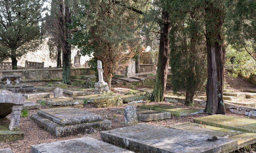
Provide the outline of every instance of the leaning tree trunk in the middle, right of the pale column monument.
[[160,23],[161,35],[159,43],[158,66],[156,72],[156,82],[151,101],[163,101],[165,96],[166,80],[169,65],[170,40],[168,34],[170,32],[170,20],[167,12],[162,12],[162,23]]

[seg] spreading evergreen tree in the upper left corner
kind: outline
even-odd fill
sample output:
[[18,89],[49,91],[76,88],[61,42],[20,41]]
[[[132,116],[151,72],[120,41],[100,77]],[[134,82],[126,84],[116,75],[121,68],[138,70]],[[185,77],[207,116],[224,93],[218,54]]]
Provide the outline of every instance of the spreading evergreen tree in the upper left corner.
[[39,22],[43,0],[0,0],[0,61],[17,59],[42,43]]

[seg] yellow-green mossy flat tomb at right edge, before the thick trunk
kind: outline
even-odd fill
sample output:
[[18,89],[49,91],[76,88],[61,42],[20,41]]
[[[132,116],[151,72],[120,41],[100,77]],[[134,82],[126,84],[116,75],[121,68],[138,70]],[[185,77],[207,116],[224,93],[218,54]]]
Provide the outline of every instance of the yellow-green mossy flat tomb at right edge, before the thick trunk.
[[194,123],[215,126],[235,131],[256,133],[256,120],[227,116],[227,115],[211,115],[193,119]]

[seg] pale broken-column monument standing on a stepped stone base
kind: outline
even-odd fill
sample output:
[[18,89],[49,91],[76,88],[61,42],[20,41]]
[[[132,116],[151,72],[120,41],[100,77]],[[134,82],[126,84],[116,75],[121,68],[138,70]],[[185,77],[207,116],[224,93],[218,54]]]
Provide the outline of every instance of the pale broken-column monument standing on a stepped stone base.
[[94,94],[100,95],[111,95],[111,91],[109,90],[108,83],[103,80],[103,69],[102,63],[100,60],[97,61],[97,69],[99,73],[99,82],[95,83],[95,92]]

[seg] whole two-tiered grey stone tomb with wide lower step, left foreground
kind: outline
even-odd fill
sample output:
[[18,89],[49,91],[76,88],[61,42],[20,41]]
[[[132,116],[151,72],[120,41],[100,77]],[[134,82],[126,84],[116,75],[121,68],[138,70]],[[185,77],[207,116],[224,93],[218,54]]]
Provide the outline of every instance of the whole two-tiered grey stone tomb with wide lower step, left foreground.
[[72,107],[41,109],[30,118],[55,137],[89,133],[92,129],[108,130],[112,125],[100,115]]

